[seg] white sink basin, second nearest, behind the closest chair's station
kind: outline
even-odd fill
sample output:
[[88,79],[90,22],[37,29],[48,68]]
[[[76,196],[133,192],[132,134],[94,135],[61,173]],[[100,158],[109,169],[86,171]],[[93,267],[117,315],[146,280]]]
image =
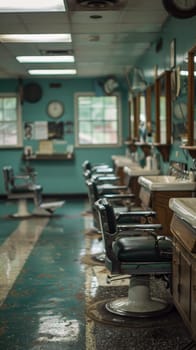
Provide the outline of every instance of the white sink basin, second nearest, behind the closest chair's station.
[[150,191],[194,191],[196,183],[172,175],[140,176],[138,182]]

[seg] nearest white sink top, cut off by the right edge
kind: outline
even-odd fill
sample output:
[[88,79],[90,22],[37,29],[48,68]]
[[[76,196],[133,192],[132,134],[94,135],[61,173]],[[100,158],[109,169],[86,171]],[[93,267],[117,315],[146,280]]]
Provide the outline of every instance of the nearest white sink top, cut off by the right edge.
[[177,216],[196,228],[196,198],[170,198],[169,207]]

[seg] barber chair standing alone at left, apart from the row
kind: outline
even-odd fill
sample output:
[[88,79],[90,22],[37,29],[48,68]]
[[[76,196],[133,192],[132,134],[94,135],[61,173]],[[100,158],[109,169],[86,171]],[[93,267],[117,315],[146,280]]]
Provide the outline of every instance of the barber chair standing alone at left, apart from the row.
[[[43,188],[35,184],[35,173],[15,175],[11,166],[4,166],[3,178],[7,198],[19,201],[18,212],[12,214],[13,217],[48,216],[64,204],[63,201],[42,202]],[[27,199],[33,199],[34,201],[35,210],[33,213],[28,211]]]

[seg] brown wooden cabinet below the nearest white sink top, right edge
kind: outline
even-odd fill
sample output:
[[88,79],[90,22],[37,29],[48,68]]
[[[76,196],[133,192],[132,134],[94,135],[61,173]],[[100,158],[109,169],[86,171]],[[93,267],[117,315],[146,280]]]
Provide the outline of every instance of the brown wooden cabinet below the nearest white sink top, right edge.
[[173,234],[173,300],[196,339],[196,230],[175,214]]

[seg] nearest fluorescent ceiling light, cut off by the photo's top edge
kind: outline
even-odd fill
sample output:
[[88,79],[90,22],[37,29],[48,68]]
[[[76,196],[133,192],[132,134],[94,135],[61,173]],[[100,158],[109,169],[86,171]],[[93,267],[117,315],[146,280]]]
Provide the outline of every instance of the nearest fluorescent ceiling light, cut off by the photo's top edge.
[[65,11],[63,0],[1,0],[0,12],[60,12]]

